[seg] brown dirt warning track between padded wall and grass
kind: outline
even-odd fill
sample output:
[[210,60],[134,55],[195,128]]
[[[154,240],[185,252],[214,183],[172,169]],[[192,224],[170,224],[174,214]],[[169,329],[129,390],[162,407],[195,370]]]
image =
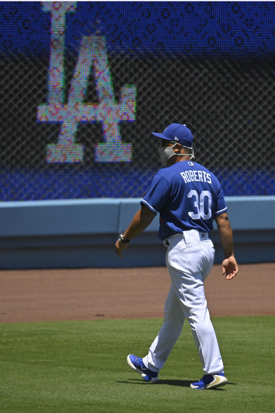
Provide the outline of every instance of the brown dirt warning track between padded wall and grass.
[[[204,283],[211,316],[275,314],[275,263],[215,265]],[[163,317],[166,267],[0,271],[0,323]]]

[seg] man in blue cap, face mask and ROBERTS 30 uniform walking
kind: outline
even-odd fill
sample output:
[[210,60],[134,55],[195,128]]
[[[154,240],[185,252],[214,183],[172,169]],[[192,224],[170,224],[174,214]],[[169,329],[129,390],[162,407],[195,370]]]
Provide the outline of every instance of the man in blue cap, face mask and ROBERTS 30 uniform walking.
[[121,257],[129,241],[141,233],[160,212],[159,237],[166,252],[171,288],[165,303],[164,323],[151,344],[148,355],[129,354],[129,366],[144,380],[157,382],[187,318],[199,351],[204,376],[192,383],[192,389],[213,389],[225,385],[223,361],[211,323],[203,282],[214,262],[214,247],[209,238],[216,220],[225,259],[222,273],[231,280],[238,272],[233,252],[233,235],[221,185],[213,173],[193,161],[193,135],[179,123],[172,123],[160,138],[158,148],[162,163],[148,194],[141,200],[127,230],[115,244]]

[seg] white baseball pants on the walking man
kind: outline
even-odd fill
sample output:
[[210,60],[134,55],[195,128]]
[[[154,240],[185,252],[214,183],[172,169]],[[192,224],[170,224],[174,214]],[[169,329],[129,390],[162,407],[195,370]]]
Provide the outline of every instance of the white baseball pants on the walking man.
[[163,367],[187,318],[204,374],[222,373],[223,361],[203,287],[214,262],[213,243],[208,233],[197,230],[173,235],[168,242],[166,265],[172,284],[165,302],[164,323],[143,363],[155,372]]

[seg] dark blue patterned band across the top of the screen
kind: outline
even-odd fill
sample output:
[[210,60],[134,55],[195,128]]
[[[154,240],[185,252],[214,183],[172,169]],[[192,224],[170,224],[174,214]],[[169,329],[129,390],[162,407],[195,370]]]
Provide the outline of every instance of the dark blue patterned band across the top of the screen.
[[[56,2],[57,3],[57,2]],[[196,57],[274,56],[273,2],[76,2],[66,15],[66,47],[78,50],[80,33],[96,22],[107,47],[136,53]],[[0,50],[48,57],[50,15],[40,2],[0,2]]]

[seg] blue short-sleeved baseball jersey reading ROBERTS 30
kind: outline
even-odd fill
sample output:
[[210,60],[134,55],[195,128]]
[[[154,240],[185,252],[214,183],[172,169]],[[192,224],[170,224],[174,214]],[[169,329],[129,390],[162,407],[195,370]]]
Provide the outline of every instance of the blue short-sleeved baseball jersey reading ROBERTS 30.
[[210,232],[214,216],[227,210],[217,178],[193,161],[180,161],[160,169],[141,204],[155,214],[160,212],[162,240],[183,230]]

